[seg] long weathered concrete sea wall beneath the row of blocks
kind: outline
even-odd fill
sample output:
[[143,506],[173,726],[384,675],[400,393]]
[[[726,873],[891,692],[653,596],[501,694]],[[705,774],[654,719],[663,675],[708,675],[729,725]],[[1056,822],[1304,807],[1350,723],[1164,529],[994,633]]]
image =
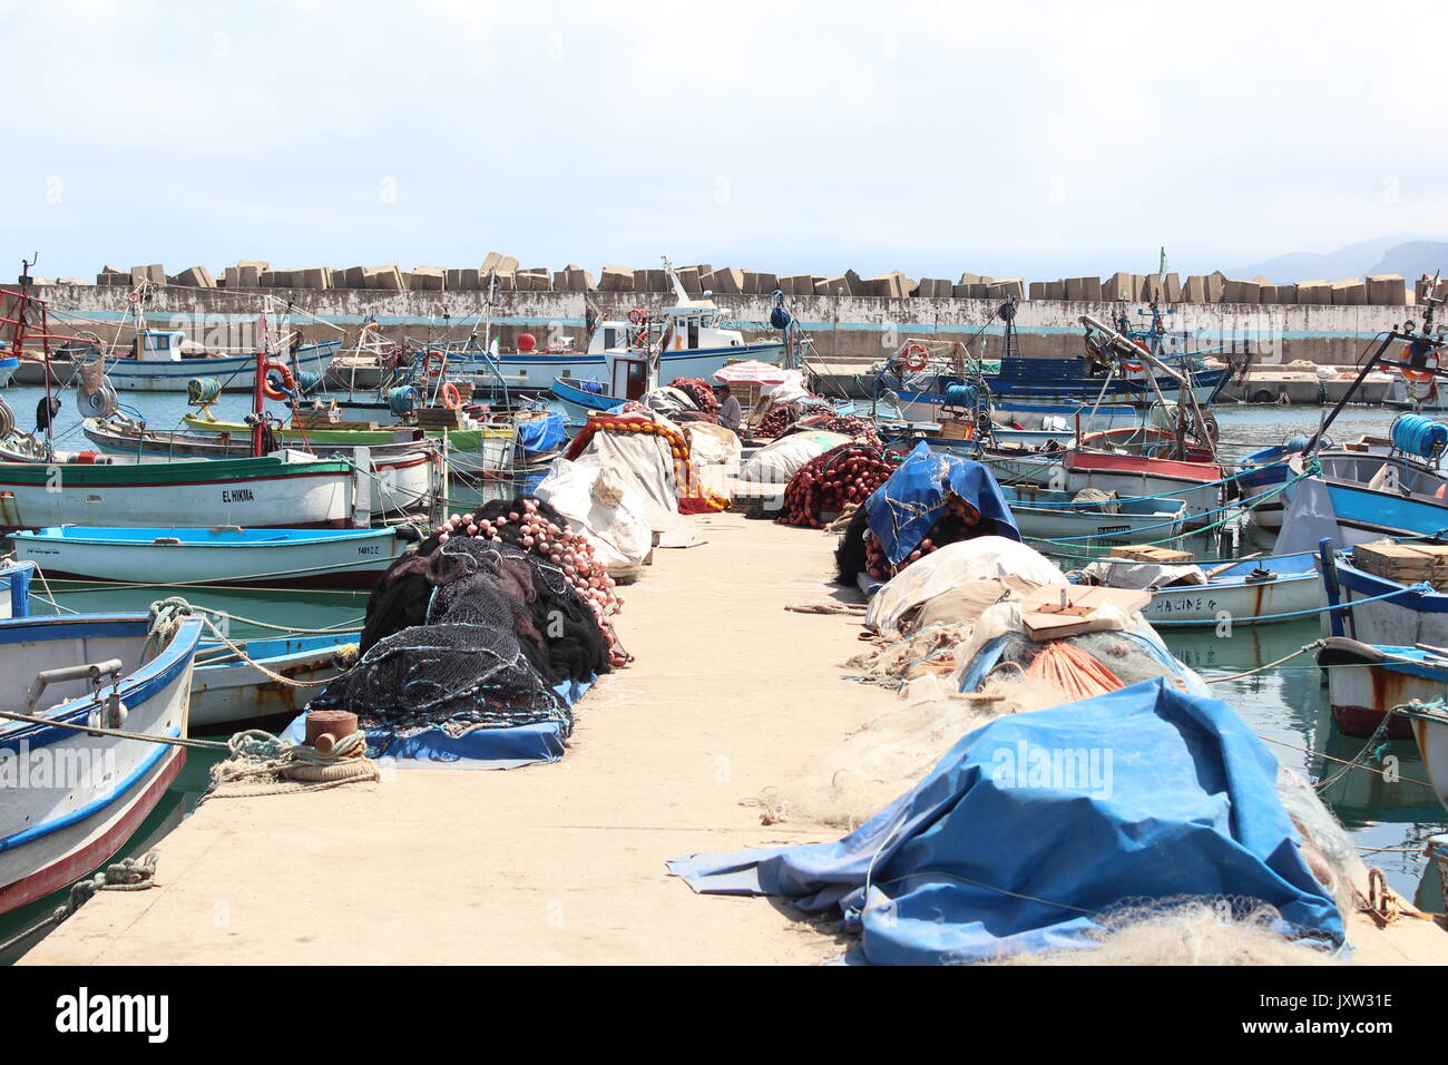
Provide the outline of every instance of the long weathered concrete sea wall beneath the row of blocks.
[[[382,291],[308,288],[187,288],[158,285],[138,290],[125,285],[35,285],[38,298],[52,306],[56,333],[87,329],[107,343],[127,343],[136,312],[148,327],[182,329],[209,348],[249,349],[262,313],[272,330],[300,329],[306,342],[334,338],[342,330],[349,346],[358,327],[375,320],[392,341],[465,339],[484,329],[487,307],[479,291]],[[630,307],[670,306],[665,293],[505,291],[492,307],[494,333],[505,348],[523,332],[540,345],[568,336],[585,342],[585,316],[592,301],[607,317],[623,317]],[[767,296],[715,294],[727,325],[746,333],[767,333]],[[873,296],[792,296],[789,310],[814,341],[824,359],[876,359],[906,339],[960,341],[973,355],[993,358],[1001,351],[1002,325],[995,320],[995,298],[889,298]],[[1027,300],[1016,310],[1019,349],[1027,356],[1063,356],[1080,352],[1080,316],[1112,322],[1125,312],[1132,323],[1147,325],[1141,304],[1119,301]],[[1422,309],[1403,306],[1229,304],[1174,303],[1167,327],[1186,348],[1219,348],[1253,352],[1255,365],[1305,359],[1316,365],[1352,365],[1381,330]],[[39,322],[36,320],[36,326]]]

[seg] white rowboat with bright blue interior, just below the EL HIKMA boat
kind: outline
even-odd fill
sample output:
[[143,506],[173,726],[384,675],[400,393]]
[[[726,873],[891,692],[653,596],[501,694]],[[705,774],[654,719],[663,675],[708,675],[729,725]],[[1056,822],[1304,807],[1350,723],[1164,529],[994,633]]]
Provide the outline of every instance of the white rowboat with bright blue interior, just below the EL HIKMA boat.
[[265,588],[371,588],[407,546],[395,529],[65,526],[10,539],[48,580]]

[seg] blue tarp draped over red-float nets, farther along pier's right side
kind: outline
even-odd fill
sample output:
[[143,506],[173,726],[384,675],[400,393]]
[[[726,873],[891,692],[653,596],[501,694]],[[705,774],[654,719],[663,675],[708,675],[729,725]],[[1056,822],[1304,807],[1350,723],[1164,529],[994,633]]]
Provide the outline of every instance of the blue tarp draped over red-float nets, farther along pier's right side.
[[891,480],[864,501],[870,532],[879,538],[891,562],[904,561],[919,546],[930,527],[946,513],[946,494],[951,491],[979,510],[982,517],[993,519],[998,536],[1021,539],[1011,507],[986,467],[959,455],[934,452],[921,442],[891,474]]

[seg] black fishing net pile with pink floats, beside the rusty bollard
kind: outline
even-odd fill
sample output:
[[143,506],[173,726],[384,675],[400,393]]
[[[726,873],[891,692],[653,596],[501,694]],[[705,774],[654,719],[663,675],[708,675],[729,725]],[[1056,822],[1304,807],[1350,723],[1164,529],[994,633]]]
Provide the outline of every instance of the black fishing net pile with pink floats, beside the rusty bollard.
[[571,727],[553,687],[627,661],[610,646],[613,587],[546,503],[520,496],[455,514],[374,587],[358,664],[311,707],[395,732]]

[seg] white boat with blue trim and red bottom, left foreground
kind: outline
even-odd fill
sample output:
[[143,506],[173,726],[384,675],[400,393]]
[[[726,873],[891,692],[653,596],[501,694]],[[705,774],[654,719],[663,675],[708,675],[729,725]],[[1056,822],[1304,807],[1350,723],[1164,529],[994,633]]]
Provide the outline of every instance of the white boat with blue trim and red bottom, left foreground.
[[156,806],[185,749],[139,738],[187,735],[200,636],[201,619],[182,617],[151,653],[146,614],[0,622],[10,706],[46,722],[0,720],[0,913],[106,862]]

